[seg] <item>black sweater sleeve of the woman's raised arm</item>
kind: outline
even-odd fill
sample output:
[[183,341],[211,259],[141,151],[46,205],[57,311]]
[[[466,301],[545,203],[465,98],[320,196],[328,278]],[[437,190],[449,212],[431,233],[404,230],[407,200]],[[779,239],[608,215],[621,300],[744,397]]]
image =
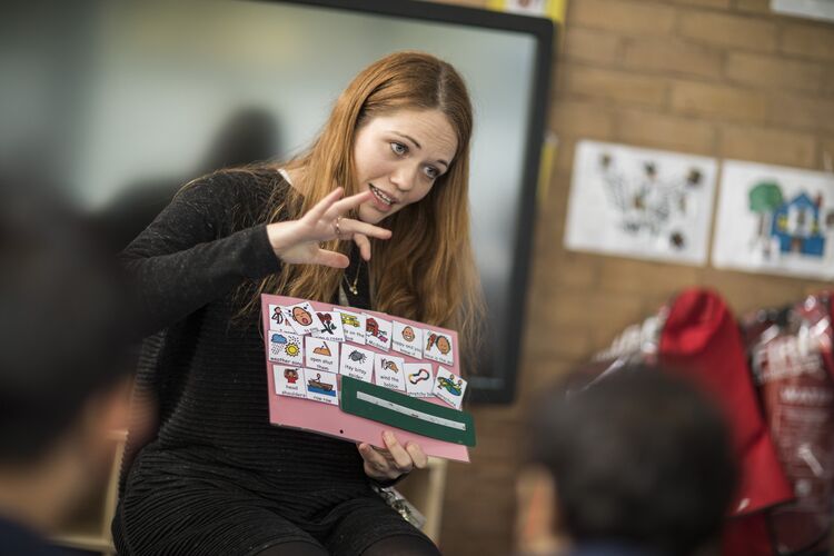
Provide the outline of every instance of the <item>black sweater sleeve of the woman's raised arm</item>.
[[121,254],[136,289],[142,336],[181,320],[246,279],[280,269],[266,225],[232,231],[236,215],[256,212],[256,188],[235,173],[197,182]]

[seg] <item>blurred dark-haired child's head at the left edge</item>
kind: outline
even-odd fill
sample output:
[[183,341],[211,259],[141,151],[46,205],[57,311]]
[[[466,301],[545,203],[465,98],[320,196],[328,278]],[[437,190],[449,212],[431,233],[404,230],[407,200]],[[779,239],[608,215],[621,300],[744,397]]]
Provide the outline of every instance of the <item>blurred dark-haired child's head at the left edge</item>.
[[[92,230],[43,191],[4,186],[0,505],[48,523],[101,476],[108,433],[126,426],[130,311]],[[14,507],[18,489],[29,502],[40,489],[53,496],[31,516]]]

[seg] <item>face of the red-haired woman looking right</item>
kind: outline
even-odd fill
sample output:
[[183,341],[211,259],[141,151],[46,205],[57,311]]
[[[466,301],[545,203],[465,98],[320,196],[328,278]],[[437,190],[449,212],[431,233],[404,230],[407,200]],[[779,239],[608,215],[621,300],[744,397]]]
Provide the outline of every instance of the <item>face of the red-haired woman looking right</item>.
[[426,197],[456,151],[455,130],[439,110],[399,110],[366,122],[356,133],[354,163],[358,192],[374,198],[359,206],[359,219],[377,224]]

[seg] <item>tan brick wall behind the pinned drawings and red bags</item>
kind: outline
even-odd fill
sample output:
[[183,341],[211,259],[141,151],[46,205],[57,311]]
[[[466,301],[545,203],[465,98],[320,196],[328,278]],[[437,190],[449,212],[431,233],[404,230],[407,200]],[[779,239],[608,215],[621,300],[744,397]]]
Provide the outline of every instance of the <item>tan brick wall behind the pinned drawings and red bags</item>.
[[450,466],[447,483],[446,554],[509,554],[524,411],[543,385],[623,327],[686,286],[715,287],[739,312],[826,286],[562,247],[583,138],[810,169],[823,168],[826,151],[834,159],[834,24],[775,16],[768,6],[569,0],[548,125],[559,150],[539,207],[519,399],[474,411],[479,445],[470,465]]

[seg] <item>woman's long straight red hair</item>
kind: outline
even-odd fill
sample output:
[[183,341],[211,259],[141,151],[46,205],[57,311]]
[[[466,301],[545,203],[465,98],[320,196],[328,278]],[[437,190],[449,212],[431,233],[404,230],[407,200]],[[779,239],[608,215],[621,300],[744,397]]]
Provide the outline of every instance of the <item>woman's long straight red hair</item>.
[[[302,169],[304,196],[294,188],[276,192],[267,221],[296,219],[332,191],[360,191],[354,167],[357,130],[373,118],[397,110],[441,111],[457,136],[457,152],[447,170],[419,202],[404,207],[379,226],[393,231],[374,241],[369,265],[374,309],[458,330],[464,353],[474,353],[483,298],[469,237],[469,142],[473,110],[466,86],[447,62],[421,52],[389,54],[354,78],[310,148],[275,168]],[[329,249],[348,252],[349,241]],[[317,265],[285,265],[264,279],[261,292],[330,301],[344,270]]]

